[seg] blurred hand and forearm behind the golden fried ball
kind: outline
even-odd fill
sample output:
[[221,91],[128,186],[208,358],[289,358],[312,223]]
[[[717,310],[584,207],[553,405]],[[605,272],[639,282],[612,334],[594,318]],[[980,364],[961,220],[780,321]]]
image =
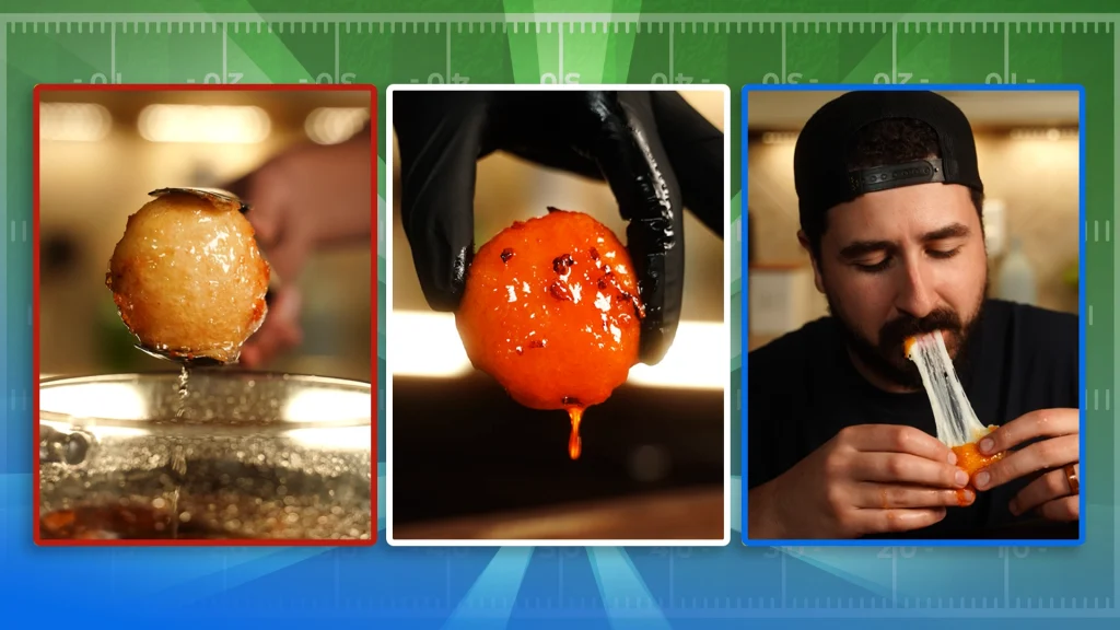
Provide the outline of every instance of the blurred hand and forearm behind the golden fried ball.
[[264,324],[242,349],[246,368],[302,340],[298,280],[307,257],[330,242],[370,238],[371,152],[367,131],[340,145],[300,146],[225,186],[251,205],[245,216],[280,279]]

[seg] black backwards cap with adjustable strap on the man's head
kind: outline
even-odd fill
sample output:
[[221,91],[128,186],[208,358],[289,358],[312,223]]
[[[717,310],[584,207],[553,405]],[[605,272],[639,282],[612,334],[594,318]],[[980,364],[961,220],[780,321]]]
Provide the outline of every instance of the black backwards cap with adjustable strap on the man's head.
[[[890,119],[920,120],[932,127],[940,159],[850,170],[847,160],[856,133]],[[942,182],[983,192],[969,120],[952,101],[926,91],[856,91],[829,101],[797,137],[793,177],[802,224],[809,214],[824,213],[875,191]]]

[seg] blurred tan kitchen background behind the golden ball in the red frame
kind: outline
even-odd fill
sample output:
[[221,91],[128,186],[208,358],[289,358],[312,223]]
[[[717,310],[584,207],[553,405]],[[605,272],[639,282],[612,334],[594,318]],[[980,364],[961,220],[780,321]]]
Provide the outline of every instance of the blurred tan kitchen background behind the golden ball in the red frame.
[[[104,284],[148,192],[222,186],[297,143],[342,142],[370,119],[370,95],[44,91],[39,115],[40,369],[97,374],[172,369],[133,349]],[[370,256],[356,244],[309,259],[299,280],[304,343],[267,369],[368,382]]]

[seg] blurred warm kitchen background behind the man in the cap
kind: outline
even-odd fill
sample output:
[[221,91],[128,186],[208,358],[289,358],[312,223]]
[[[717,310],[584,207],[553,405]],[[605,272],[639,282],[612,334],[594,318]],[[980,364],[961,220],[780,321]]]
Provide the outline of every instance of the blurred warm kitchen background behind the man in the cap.
[[[797,242],[793,150],[842,92],[754,92],[748,117],[750,349],[828,314]],[[1077,312],[1076,92],[941,92],[972,123],[983,179],[989,295]]]

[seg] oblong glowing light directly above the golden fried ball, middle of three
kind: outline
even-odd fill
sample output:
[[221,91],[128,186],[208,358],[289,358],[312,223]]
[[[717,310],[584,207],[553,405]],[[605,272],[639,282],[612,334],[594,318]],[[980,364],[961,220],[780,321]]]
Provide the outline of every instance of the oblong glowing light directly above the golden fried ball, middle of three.
[[148,105],[140,112],[140,136],[151,142],[251,145],[271,131],[269,114],[258,106]]

